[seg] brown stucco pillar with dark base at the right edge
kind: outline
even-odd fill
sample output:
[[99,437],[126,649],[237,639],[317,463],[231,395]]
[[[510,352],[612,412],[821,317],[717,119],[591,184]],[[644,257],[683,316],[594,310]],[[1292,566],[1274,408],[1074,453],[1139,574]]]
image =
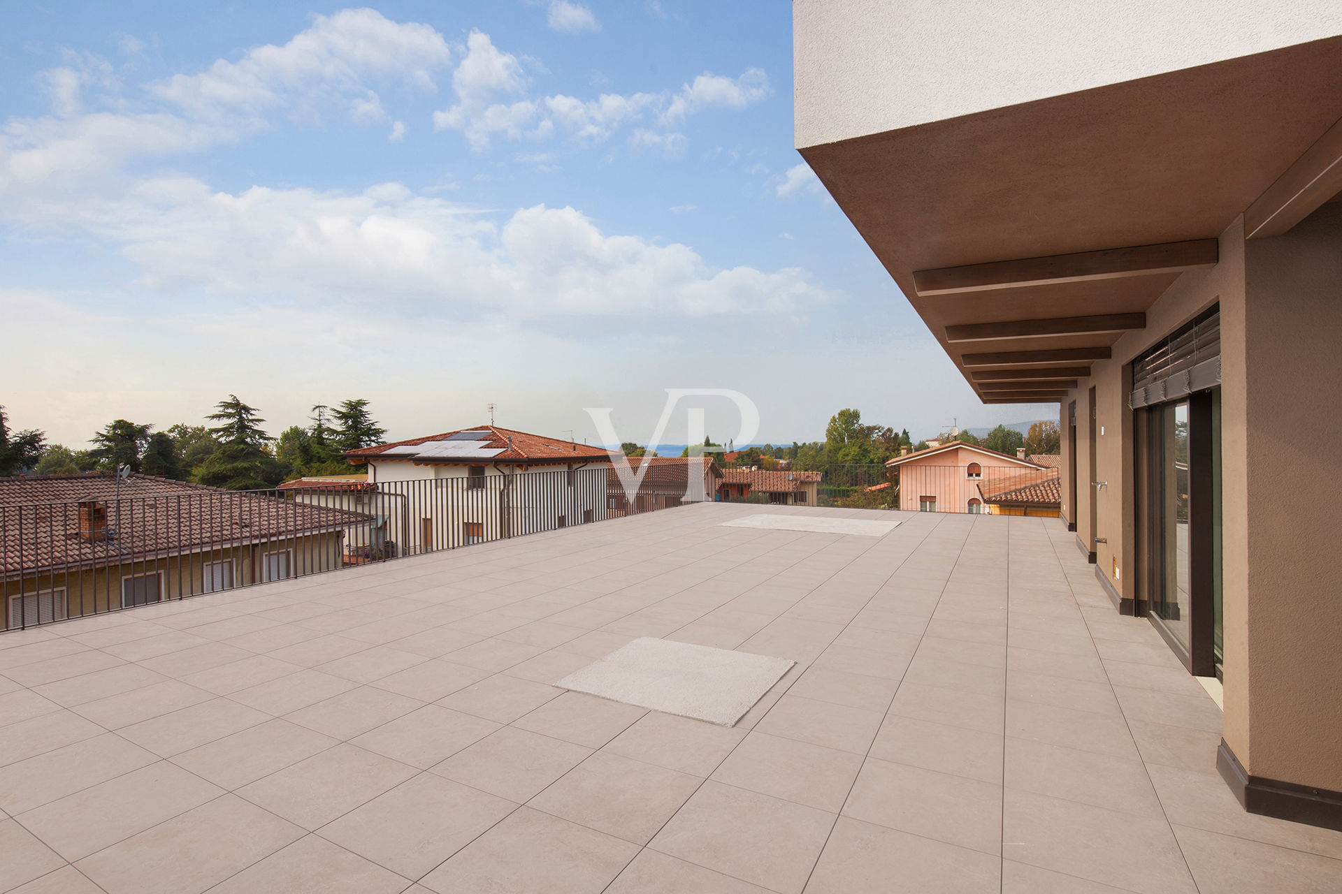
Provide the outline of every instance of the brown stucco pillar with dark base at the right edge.
[[1248,243],[1244,268],[1248,600],[1233,618],[1227,606],[1227,627],[1247,631],[1236,685],[1248,689],[1251,752],[1236,755],[1255,776],[1342,791],[1342,524],[1319,493],[1342,481],[1331,449],[1342,442],[1342,204]]

